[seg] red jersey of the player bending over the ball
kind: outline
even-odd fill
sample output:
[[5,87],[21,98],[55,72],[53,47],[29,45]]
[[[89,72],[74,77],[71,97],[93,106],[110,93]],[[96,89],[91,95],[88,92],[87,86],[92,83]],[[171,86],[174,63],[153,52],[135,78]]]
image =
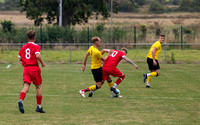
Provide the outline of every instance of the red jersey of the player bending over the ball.
[[114,52],[104,62],[103,66],[104,67],[110,67],[110,66],[117,67],[118,63],[122,60],[122,57],[126,57],[126,55],[122,51],[114,50]]

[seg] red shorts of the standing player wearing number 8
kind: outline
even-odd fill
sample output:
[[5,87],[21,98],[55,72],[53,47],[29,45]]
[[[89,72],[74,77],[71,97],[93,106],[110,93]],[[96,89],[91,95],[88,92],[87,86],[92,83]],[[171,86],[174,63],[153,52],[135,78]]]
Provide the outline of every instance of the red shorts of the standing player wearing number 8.
[[41,69],[38,66],[24,67],[23,82],[31,84],[32,81],[34,85],[42,84]]

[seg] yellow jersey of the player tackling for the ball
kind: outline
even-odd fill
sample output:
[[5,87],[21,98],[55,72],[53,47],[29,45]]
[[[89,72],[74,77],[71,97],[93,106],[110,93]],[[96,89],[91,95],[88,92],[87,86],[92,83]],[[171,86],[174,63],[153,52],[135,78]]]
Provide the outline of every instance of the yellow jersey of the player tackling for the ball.
[[102,54],[101,52],[95,48],[94,46],[91,46],[88,49],[88,53],[91,56],[91,60],[92,60],[92,65],[91,65],[91,69],[98,69],[101,67],[101,58],[102,58]]

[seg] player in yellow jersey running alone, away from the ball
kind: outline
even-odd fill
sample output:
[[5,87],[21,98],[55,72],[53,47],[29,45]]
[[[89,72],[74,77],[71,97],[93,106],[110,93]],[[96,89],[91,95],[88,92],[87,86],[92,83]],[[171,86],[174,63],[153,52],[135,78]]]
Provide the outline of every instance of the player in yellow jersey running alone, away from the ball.
[[165,42],[165,35],[162,34],[159,36],[159,40],[151,46],[151,49],[149,50],[149,53],[147,55],[147,64],[149,66],[150,73],[143,74],[144,83],[147,79],[146,88],[150,88],[150,82],[152,77],[157,77],[160,75],[158,54],[162,50],[162,43],[164,42]]

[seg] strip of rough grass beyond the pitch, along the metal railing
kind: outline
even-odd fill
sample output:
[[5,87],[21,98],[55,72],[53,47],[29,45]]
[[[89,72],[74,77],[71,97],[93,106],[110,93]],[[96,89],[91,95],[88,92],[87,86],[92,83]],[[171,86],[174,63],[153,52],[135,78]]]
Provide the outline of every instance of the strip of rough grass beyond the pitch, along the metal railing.
[[[100,49],[101,50],[101,49]],[[71,62],[72,63],[82,63],[83,58],[87,50],[72,50],[71,52]],[[146,55],[149,52],[148,49],[130,49],[128,50],[128,55],[130,59],[136,62],[146,62]],[[8,51],[5,50],[0,53],[0,63],[13,63],[18,61],[17,50]],[[167,50],[166,61],[171,63],[172,53],[174,53],[174,59],[176,63],[198,63],[200,64],[200,51],[199,50]],[[70,63],[70,51],[69,50],[42,50],[42,58],[44,62],[51,63]],[[159,54],[159,62],[165,61],[165,51],[164,48]],[[90,57],[88,62],[91,62]]]

